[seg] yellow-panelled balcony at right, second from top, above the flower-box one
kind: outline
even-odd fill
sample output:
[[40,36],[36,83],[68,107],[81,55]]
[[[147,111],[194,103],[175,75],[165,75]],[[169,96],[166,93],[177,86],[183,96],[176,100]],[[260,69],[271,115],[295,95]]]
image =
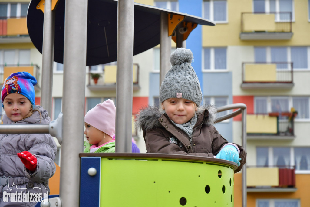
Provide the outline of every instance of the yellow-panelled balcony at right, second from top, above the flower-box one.
[[292,62],[242,62],[242,89],[292,89]]

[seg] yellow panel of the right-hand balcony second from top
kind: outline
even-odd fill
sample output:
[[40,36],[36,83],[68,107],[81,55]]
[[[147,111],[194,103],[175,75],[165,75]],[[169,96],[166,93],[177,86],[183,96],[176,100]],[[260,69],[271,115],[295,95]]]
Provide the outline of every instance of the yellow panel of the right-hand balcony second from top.
[[277,81],[276,64],[246,64],[244,81]]

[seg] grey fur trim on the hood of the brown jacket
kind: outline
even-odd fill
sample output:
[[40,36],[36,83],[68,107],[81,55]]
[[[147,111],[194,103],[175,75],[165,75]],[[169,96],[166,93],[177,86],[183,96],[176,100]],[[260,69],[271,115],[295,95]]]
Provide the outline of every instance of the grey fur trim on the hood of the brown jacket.
[[[214,105],[205,105],[199,107],[197,110],[197,115],[204,113],[205,110],[208,110],[209,115],[206,117],[205,124],[213,125],[216,119],[217,109]],[[153,128],[157,128],[160,126],[158,121],[159,117],[161,117],[163,111],[159,110],[157,106],[149,105],[146,108],[142,108],[137,114],[135,119],[135,129],[136,131],[140,131],[141,129],[150,130]]]

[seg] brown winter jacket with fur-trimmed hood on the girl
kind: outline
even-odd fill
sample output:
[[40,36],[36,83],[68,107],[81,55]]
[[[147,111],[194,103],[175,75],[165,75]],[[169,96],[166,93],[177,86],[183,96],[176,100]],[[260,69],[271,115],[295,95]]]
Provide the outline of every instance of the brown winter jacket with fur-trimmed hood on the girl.
[[[215,113],[216,109],[212,105],[199,110],[191,137],[172,124],[168,116],[154,106],[140,111],[136,127],[143,130],[147,153],[188,154],[213,158],[228,143],[213,126]],[[241,145],[235,145],[239,147],[241,158],[240,166],[234,171],[237,173],[246,163],[246,151]]]

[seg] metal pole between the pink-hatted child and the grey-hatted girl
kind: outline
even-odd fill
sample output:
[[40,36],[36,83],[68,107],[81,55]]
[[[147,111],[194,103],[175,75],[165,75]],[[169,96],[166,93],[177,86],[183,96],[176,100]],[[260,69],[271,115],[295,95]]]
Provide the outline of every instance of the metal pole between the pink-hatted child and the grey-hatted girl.
[[[126,38],[124,38],[126,37]],[[131,152],[134,0],[117,3],[115,152]]]

